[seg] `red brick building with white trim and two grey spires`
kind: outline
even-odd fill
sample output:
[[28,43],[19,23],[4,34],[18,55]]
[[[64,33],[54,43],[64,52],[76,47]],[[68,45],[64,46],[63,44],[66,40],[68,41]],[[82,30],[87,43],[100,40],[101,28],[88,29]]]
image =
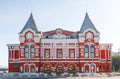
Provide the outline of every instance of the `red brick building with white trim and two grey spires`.
[[61,28],[47,32],[38,31],[31,14],[19,33],[20,43],[7,45],[9,72],[111,72],[112,44],[100,44],[99,40],[100,33],[87,13],[77,32]]

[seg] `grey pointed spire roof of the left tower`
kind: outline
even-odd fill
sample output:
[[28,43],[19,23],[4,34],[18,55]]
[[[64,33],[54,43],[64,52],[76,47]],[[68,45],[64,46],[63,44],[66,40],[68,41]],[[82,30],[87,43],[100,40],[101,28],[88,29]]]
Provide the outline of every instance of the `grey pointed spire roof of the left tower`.
[[30,14],[30,17],[29,17],[27,23],[25,24],[24,28],[22,29],[22,31],[20,33],[23,33],[23,31],[28,29],[28,28],[34,30],[35,33],[39,32],[37,27],[36,27],[35,21],[33,19],[33,14],[32,13]]

